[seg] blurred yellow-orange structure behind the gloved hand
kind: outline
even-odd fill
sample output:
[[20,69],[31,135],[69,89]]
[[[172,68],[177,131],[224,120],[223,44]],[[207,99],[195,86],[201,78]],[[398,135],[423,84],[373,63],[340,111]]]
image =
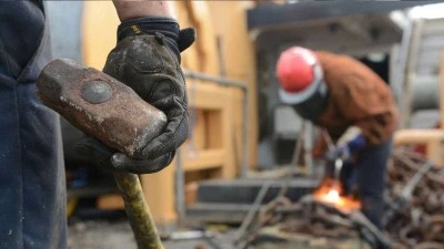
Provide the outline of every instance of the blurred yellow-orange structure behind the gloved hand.
[[[194,27],[198,40],[182,53],[186,71],[214,76],[223,74],[249,87],[249,155],[256,162],[256,110],[254,48],[246,30],[248,8],[254,1],[171,1],[181,27]],[[84,64],[102,69],[115,45],[119,24],[111,1],[85,1],[83,13]],[[194,110],[193,137],[181,148],[185,181],[232,178],[239,173],[242,137],[242,92],[196,80],[186,82],[190,106]],[[175,162],[167,169],[142,176],[148,203],[159,225],[176,220],[174,209]],[[184,189],[183,189],[184,191]]]

